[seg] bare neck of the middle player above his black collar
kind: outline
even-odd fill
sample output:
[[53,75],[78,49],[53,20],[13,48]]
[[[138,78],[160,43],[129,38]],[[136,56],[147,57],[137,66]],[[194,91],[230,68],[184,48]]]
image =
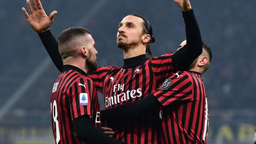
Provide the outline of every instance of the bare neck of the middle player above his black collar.
[[126,48],[122,48],[122,49],[123,49],[123,52],[124,52],[124,59],[146,54],[145,45],[131,46],[131,47],[126,47]]

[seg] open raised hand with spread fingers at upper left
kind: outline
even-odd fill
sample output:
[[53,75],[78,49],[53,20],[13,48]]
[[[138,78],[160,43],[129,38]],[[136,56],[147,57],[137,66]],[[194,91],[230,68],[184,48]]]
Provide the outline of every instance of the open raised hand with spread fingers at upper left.
[[40,0],[27,0],[28,10],[31,15],[29,15],[26,9],[23,7],[22,11],[27,18],[29,25],[37,32],[42,33],[49,29],[50,25],[53,23],[53,18],[57,14],[57,11],[53,11],[48,17],[42,7]]

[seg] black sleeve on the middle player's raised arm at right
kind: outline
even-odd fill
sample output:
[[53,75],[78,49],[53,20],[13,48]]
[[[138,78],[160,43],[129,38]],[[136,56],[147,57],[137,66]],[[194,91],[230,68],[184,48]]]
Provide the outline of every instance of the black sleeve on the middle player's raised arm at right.
[[173,54],[174,71],[184,71],[202,53],[203,44],[199,26],[193,10],[182,11],[186,27],[187,44]]

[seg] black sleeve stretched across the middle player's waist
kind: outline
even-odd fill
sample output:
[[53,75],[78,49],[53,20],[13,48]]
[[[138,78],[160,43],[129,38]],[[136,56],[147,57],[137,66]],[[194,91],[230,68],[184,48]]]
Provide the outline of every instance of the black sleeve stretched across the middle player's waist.
[[138,118],[161,106],[162,104],[157,100],[157,98],[153,94],[149,94],[138,101],[102,110],[100,115],[102,121],[125,121]]

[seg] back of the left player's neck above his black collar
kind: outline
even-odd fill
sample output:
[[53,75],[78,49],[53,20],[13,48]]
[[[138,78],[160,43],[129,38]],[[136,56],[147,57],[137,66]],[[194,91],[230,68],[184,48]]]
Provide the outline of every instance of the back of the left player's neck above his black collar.
[[62,59],[63,65],[73,65],[75,67],[80,68],[85,73],[88,72],[88,69],[85,66],[85,60],[84,59],[74,59],[74,58],[66,58]]

